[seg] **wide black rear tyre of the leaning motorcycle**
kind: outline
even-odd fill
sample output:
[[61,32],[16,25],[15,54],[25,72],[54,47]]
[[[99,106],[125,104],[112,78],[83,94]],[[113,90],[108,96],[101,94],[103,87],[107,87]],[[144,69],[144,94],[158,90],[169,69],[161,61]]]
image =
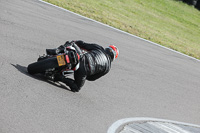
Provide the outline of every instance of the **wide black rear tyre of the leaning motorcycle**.
[[29,74],[43,73],[48,69],[57,68],[57,58],[48,58],[28,65],[27,71]]

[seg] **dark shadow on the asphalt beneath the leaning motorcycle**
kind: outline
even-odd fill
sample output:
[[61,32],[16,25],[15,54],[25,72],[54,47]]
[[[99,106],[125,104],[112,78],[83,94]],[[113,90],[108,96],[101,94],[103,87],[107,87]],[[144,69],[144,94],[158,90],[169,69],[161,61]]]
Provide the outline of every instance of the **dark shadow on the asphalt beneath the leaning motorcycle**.
[[25,74],[26,76],[29,76],[31,78],[34,78],[34,79],[37,79],[37,80],[40,80],[40,81],[44,81],[44,82],[47,82],[49,84],[52,84],[56,87],[59,87],[59,88],[62,88],[62,89],[65,89],[65,90],[69,90],[69,88],[67,88],[67,86],[63,85],[62,83],[59,83],[59,82],[53,82],[51,80],[48,80],[44,75],[42,74],[35,74],[35,75],[31,75],[27,72],[27,67],[25,66],[21,66],[19,64],[11,64],[12,66],[14,66],[19,72]]

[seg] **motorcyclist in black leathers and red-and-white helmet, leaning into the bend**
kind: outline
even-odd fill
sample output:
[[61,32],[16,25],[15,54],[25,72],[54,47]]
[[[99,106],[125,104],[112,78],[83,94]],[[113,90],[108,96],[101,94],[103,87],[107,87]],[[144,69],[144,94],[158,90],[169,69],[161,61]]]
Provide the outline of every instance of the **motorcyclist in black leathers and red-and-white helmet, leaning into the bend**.
[[[94,81],[107,74],[111,68],[111,62],[119,55],[119,50],[114,45],[104,49],[98,44],[85,43],[81,40],[67,41],[57,49],[47,49],[47,54],[63,53],[65,48],[73,51],[71,52],[73,53],[72,56],[69,57],[69,62],[73,64],[71,69],[75,70],[74,80],[59,74],[55,75],[54,81],[65,83],[73,92],[78,92],[86,79]],[[86,52],[82,53],[80,49]]]

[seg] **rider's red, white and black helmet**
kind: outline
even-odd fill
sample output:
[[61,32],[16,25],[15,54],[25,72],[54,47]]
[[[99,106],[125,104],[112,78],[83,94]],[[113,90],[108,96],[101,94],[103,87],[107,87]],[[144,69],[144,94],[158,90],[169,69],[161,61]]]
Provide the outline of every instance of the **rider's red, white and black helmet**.
[[119,49],[114,45],[110,45],[108,48],[105,48],[105,51],[111,57],[112,61],[114,61],[119,55]]

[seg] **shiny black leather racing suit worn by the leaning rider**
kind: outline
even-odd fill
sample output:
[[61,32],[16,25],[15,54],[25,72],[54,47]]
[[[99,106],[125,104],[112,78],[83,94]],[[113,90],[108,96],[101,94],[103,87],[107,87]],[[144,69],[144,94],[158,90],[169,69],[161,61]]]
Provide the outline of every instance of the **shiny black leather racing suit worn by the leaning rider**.
[[74,80],[63,78],[62,81],[68,85],[72,91],[79,91],[85,80],[94,81],[107,74],[111,68],[110,56],[105,53],[102,46],[89,44],[83,41],[75,41],[85,53],[80,59],[80,67],[74,72]]

